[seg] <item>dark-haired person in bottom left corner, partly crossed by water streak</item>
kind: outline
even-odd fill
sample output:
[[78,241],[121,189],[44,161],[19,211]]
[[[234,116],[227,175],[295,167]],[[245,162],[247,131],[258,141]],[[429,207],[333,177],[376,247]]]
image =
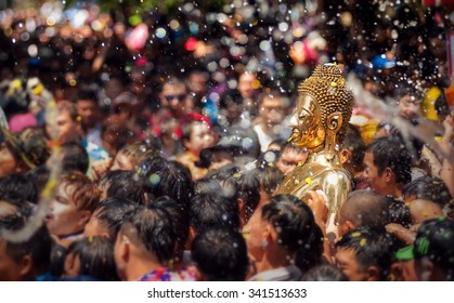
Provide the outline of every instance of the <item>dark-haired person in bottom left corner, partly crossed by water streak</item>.
[[[21,214],[20,214],[21,213]],[[30,209],[0,216],[0,229],[17,232],[24,228]],[[0,236],[0,280],[35,280],[49,271],[52,240],[43,225],[27,240],[13,242]]]

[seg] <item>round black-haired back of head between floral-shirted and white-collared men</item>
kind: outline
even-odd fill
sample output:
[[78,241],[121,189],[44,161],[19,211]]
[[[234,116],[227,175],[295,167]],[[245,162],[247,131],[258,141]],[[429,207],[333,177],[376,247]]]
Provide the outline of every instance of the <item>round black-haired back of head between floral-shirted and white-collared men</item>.
[[198,233],[191,246],[191,258],[209,281],[243,281],[248,272],[246,241],[239,232],[225,226],[210,226]]

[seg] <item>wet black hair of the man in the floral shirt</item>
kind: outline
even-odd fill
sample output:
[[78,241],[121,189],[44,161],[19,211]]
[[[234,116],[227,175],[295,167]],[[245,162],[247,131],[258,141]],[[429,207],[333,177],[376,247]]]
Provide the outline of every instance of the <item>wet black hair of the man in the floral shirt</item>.
[[174,253],[177,235],[168,211],[153,203],[139,206],[128,216],[120,234],[137,238],[140,246],[167,264]]

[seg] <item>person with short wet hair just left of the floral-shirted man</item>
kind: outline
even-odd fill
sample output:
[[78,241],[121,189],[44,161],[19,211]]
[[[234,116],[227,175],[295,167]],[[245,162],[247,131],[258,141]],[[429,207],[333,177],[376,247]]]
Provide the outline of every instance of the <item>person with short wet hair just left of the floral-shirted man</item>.
[[83,229],[83,236],[102,236],[115,241],[125,218],[135,209],[137,205],[116,196],[100,201]]

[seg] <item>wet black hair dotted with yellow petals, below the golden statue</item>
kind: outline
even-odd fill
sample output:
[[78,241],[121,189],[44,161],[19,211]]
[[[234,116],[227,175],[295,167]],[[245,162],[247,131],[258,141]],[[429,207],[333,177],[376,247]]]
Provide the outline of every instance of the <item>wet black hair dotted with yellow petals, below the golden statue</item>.
[[375,266],[378,269],[378,279],[388,280],[397,250],[397,241],[391,235],[363,226],[343,235],[336,242],[336,248],[353,250],[361,271]]

